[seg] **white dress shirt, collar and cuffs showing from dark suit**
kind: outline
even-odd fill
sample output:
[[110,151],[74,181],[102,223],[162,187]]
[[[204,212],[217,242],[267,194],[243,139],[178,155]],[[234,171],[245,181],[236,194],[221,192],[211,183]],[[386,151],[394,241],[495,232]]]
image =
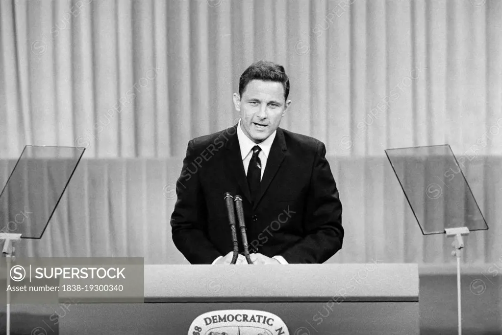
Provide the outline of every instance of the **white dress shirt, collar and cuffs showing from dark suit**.
[[[272,143],[274,142],[274,139],[276,138],[276,133],[277,133],[277,130],[274,131],[263,142],[258,144],[258,146],[262,149],[262,150],[260,150],[260,153],[258,154],[258,158],[260,158],[260,161],[262,163],[262,175],[260,177],[260,180],[263,179],[265,167],[267,166],[267,158],[269,157],[270,149],[272,148]],[[237,139],[239,140],[240,155],[242,158],[242,164],[244,165],[244,172],[247,175],[247,168],[249,167],[249,161],[251,160],[251,157],[253,156],[253,147],[257,144],[255,142],[253,142],[252,140],[250,140],[244,134],[244,132],[240,128],[240,119],[239,119],[239,123],[237,124]],[[216,258],[213,261],[213,264],[221,257],[222,256],[219,256],[218,258]],[[274,256],[272,258],[277,259],[281,264],[288,264],[288,262],[286,261],[286,259],[284,259],[283,256]]]

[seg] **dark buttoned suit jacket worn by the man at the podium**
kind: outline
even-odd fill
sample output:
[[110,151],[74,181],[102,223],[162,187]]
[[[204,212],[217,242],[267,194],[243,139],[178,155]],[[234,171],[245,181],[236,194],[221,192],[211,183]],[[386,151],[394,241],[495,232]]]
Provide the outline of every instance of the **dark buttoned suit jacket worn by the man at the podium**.
[[[173,241],[192,264],[233,250],[224,193],[243,199],[253,252],[288,263],[322,263],[342,246],[342,205],[322,142],[278,128],[253,206],[237,125],[188,143],[171,216]],[[237,235],[240,235],[237,224]],[[242,243],[239,239],[240,250]]]

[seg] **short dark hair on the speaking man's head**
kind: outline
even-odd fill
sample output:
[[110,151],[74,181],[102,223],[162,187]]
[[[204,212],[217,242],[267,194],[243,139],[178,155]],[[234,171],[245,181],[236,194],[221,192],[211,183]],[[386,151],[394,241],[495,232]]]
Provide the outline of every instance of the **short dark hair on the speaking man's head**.
[[279,82],[283,84],[284,100],[288,100],[289,78],[282,65],[266,61],[258,61],[251,64],[240,76],[239,95],[241,97],[247,84],[252,80]]

